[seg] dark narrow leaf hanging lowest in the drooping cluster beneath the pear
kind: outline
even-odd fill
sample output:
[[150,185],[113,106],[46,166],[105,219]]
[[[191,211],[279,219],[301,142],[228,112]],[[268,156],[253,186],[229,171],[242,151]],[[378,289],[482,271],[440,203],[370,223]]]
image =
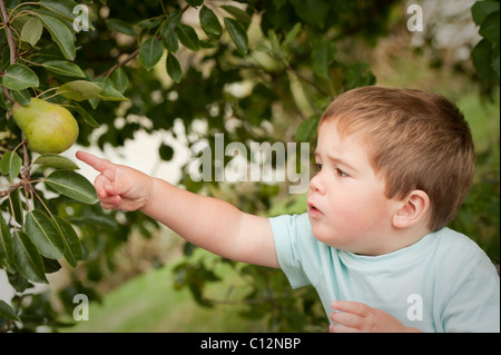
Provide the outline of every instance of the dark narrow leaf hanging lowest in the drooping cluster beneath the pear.
[[16,230],[12,241],[14,264],[19,273],[32,282],[47,284],[42,258],[28,235]]

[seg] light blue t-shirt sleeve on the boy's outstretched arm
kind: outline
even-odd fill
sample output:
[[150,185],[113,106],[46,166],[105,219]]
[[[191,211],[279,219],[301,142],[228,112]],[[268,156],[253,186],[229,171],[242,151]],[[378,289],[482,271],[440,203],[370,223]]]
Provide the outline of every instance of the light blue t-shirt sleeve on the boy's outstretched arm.
[[[276,256],[282,270],[293,288],[306,286],[310,280],[303,268],[301,244],[308,237],[310,220],[306,214],[269,218],[275,238]],[[311,227],[310,227],[311,230]],[[302,239],[303,238],[303,239]]]

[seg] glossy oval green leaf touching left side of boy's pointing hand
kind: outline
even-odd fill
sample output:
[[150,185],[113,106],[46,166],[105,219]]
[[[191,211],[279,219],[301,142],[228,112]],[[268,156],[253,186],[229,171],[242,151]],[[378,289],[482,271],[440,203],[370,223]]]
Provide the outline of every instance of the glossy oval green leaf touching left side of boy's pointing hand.
[[53,171],[45,181],[59,194],[76,199],[77,201],[89,205],[98,201],[94,186],[78,172],[71,170]]

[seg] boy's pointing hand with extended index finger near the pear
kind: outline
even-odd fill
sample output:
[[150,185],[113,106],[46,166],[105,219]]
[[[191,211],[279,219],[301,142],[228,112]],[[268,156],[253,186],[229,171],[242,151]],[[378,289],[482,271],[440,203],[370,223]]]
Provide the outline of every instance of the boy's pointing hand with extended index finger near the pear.
[[77,158],[101,172],[94,186],[102,208],[136,210],[145,207],[154,187],[151,177],[88,152],[77,151]]

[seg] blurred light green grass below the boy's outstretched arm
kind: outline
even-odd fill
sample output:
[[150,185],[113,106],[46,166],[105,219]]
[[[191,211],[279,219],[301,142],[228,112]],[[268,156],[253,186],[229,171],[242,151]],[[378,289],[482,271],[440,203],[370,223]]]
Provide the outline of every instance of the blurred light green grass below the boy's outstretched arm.
[[[218,333],[266,332],[264,319],[249,321],[238,316],[240,305],[199,306],[187,288],[173,287],[176,263],[151,269],[116,288],[101,304],[90,302],[89,321],[63,332],[71,333]],[[243,283],[222,266],[223,282],[208,287],[208,294],[224,298],[228,287],[240,289]]]

